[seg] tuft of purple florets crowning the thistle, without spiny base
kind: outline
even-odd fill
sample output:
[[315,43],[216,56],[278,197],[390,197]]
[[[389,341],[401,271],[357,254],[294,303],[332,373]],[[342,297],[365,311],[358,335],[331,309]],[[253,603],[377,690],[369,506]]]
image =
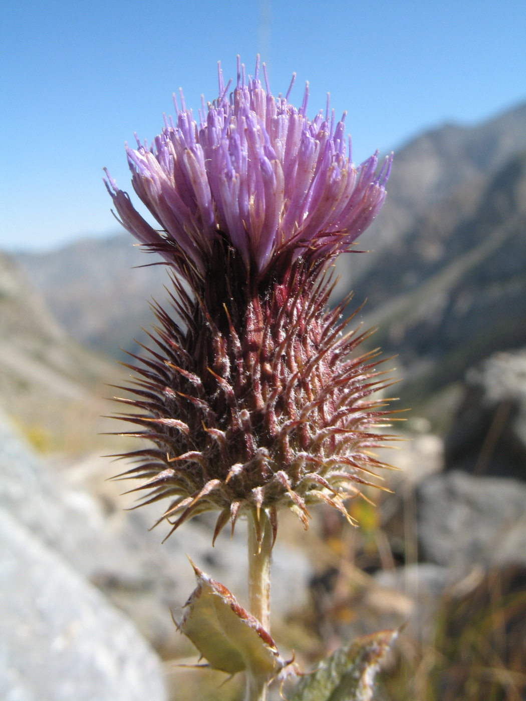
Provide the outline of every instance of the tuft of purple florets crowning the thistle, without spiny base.
[[[376,175],[377,153],[355,167],[344,118],[334,111],[306,117],[308,83],[302,107],[274,97],[255,76],[245,80],[238,58],[236,87],[229,93],[219,68],[219,97],[199,110],[199,123],[181,93],[176,122],[165,120],[147,149],[126,148],[140,197],[161,225],[153,229],[135,211],[126,193],[108,177],[107,187],[123,226],[141,243],[158,248],[171,263],[173,244],[203,275],[213,241],[226,236],[248,269],[264,273],[274,254],[292,250],[330,257],[369,226],[385,199],[391,168],[386,158]],[[180,259],[180,257],[179,257]],[[180,264],[176,264],[180,268]]]

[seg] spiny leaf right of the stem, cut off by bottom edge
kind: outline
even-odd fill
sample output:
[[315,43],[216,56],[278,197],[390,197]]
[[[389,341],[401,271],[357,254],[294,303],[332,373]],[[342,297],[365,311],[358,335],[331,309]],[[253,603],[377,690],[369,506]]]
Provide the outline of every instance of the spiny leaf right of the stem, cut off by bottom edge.
[[300,679],[290,701],[371,701],[379,662],[397,636],[383,630],[339,648]]

